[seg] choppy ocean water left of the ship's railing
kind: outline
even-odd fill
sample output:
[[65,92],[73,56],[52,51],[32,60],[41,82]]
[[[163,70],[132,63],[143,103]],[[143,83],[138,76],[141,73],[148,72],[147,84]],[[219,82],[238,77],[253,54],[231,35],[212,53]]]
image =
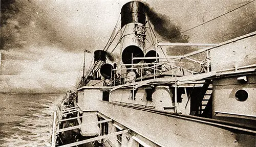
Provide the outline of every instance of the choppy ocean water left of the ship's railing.
[[0,146],[51,146],[61,94],[0,93]]

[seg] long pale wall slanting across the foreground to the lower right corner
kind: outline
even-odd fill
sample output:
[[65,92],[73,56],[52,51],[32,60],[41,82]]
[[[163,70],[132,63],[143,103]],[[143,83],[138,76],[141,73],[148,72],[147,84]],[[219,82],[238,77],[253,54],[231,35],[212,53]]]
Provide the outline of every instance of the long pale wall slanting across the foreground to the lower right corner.
[[[99,111],[162,146],[254,146],[255,133],[244,133],[194,120],[101,103]],[[240,134],[238,134],[240,133]],[[243,139],[242,139],[243,138]],[[236,142],[236,139],[238,139]]]

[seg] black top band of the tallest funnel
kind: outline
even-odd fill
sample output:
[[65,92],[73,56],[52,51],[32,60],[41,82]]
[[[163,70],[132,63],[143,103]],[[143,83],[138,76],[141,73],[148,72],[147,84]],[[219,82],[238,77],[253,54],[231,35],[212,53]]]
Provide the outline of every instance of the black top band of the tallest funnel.
[[145,5],[142,2],[132,1],[123,5],[121,9],[121,28],[131,22],[139,22],[145,25]]

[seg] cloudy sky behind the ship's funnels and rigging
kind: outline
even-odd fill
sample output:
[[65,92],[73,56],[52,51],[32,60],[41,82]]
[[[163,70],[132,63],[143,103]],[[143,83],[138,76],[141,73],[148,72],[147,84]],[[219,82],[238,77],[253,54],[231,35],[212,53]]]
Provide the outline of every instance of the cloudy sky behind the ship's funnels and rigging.
[[[82,76],[83,50],[102,50],[130,1],[2,0],[0,92],[62,93]],[[144,0],[180,32],[250,1]],[[220,43],[256,31],[256,2],[186,31],[186,42]],[[120,22],[120,21],[119,21]],[[120,25],[120,24],[119,24]],[[157,28],[157,27],[156,27]],[[157,32],[157,30],[156,30]],[[159,40],[165,39],[161,32]],[[172,41],[166,40],[165,42]],[[165,48],[181,55],[196,48]],[[86,68],[93,54],[86,54]]]

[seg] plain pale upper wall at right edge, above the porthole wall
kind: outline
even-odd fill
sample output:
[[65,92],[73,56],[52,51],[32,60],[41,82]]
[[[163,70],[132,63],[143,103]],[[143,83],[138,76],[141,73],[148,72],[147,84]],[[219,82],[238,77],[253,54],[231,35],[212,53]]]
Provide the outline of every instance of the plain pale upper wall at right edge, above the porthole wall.
[[210,50],[212,71],[256,64],[256,36]]

